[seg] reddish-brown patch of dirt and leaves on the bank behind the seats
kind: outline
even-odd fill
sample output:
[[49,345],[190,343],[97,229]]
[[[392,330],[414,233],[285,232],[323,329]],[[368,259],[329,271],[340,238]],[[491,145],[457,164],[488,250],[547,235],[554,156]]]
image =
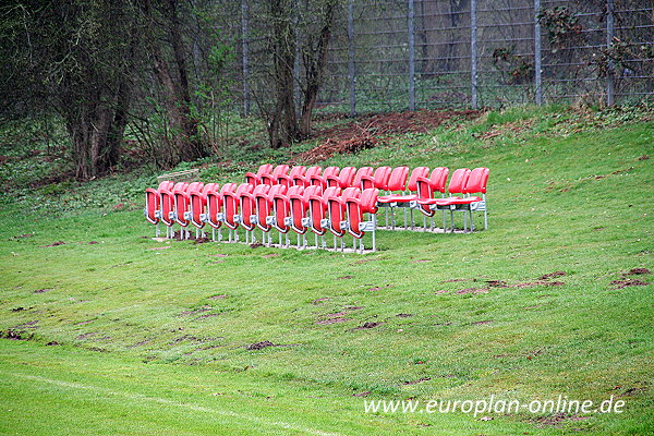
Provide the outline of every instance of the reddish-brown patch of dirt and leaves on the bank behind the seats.
[[300,154],[294,161],[315,164],[337,154],[356,153],[385,144],[388,135],[408,132],[425,133],[452,118],[471,120],[479,110],[419,110],[412,112],[380,113],[365,121],[354,121],[318,132],[320,144]]

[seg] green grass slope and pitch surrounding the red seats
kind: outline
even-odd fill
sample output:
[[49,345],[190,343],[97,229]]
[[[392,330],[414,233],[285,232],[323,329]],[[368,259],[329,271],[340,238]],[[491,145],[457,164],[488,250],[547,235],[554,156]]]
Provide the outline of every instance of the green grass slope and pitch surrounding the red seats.
[[[0,434],[653,434],[653,120],[514,109],[337,156],[491,168],[488,230],[379,231],[370,255],[154,241],[137,174],[17,186],[0,210]],[[93,207],[104,190],[126,206]],[[364,410],[491,396],[625,407]]]

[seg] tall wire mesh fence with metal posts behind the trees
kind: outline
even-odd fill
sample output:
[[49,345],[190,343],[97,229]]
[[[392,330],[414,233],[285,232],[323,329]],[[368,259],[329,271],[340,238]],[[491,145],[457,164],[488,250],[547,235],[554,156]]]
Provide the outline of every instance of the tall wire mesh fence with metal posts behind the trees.
[[[246,112],[270,62],[262,8],[241,1]],[[346,0],[318,105],[355,114],[643,100],[654,100],[651,0]]]

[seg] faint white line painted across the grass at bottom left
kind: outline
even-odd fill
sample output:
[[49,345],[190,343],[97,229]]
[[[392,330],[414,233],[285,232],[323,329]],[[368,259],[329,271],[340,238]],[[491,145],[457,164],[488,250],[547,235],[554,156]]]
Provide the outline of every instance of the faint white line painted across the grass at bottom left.
[[237,413],[237,412],[232,412],[229,410],[211,409],[211,408],[207,408],[204,405],[197,405],[197,404],[187,404],[187,403],[183,403],[183,402],[168,400],[166,398],[148,397],[148,396],[145,396],[142,393],[129,393],[129,392],[123,392],[123,391],[116,391],[116,390],[110,390],[107,388],[101,388],[98,386],[83,385],[83,384],[76,383],[76,382],[55,380],[51,378],[40,377],[37,375],[25,375],[25,374],[11,374],[11,375],[14,377],[17,377],[17,378],[25,378],[28,380],[47,383],[50,385],[61,386],[64,388],[92,390],[92,391],[102,392],[102,393],[111,395],[111,396],[116,396],[116,397],[129,398],[132,400],[150,401],[150,402],[155,402],[155,403],[159,403],[159,404],[173,405],[177,408],[189,409],[189,410],[192,410],[195,412],[214,413],[214,414],[219,414],[222,416],[237,417],[239,420],[253,421],[261,425],[281,427],[281,428],[286,428],[286,429],[293,429],[293,431],[306,433],[308,435],[342,436],[340,433],[323,432],[323,431],[316,429],[316,428],[308,428],[308,427],[304,427],[301,425],[289,424],[283,421],[267,421],[267,420],[261,419],[258,416],[254,416],[254,415]]

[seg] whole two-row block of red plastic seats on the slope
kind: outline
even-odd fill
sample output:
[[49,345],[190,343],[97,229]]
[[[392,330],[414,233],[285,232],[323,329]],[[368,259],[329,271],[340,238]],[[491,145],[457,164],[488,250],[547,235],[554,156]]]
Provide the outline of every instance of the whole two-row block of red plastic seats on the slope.
[[[455,210],[470,215],[471,229],[472,211],[480,210],[484,211],[487,228],[485,194],[488,169],[456,170],[447,186],[451,196],[445,197],[448,174],[449,170],[445,167],[435,168],[431,174],[427,167],[417,167],[409,177],[408,167],[379,167],[376,170],[371,167],[359,170],[328,167],[322,171],[320,167],[306,169],[300,166],[289,171],[286,165],[275,169],[267,165],[262,166],[257,173],[247,173],[246,183],[227,183],[222,189],[216,183],[180,182],[173,185],[172,182],[162,182],[157,190],[146,190],[145,215],[152,223],[161,220],[167,226],[167,237],[171,237],[174,223],[180,225],[186,234],[189,225],[203,229],[208,223],[215,231],[225,223],[230,230],[230,241],[232,232],[238,238],[235,230],[239,227],[247,232],[246,241],[255,228],[264,232],[276,229],[280,232],[280,244],[281,234],[289,230],[300,238],[311,229],[317,239],[327,232],[325,226],[335,238],[342,238],[347,231],[361,239],[364,234],[361,225],[364,222],[363,215],[375,214],[377,207],[387,207],[391,211],[395,207],[408,208],[412,227],[414,209],[425,217],[443,210],[444,229],[445,211],[450,210],[452,231]],[[378,196],[379,190],[396,194]],[[436,193],[441,193],[441,197],[435,198]],[[481,193],[482,197],[472,196],[473,193]],[[395,214],[391,217],[395,227]],[[388,227],[388,214],[386,219]],[[366,221],[363,228],[374,230],[376,217],[373,216],[373,220]],[[424,227],[426,229],[426,223]]]

